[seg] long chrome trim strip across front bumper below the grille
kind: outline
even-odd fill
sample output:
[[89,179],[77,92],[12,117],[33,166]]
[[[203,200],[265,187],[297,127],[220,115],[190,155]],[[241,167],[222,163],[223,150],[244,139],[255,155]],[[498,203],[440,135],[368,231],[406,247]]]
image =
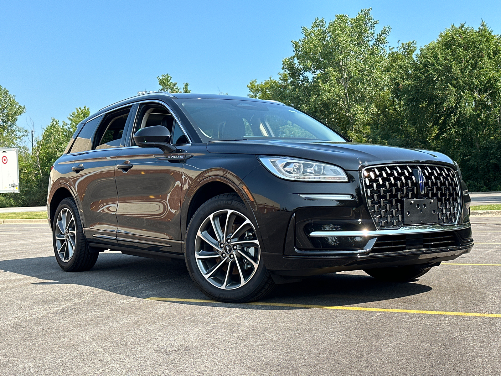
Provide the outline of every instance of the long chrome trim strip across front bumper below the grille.
[[470,228],[471,224],[463,223],[460,225],[418,225],[402,226],[393,230],[363,230],[363,231],[313,231],[309,236],[380,236],[380,235],[405,235],[434,233],[439,231],[455,231]]

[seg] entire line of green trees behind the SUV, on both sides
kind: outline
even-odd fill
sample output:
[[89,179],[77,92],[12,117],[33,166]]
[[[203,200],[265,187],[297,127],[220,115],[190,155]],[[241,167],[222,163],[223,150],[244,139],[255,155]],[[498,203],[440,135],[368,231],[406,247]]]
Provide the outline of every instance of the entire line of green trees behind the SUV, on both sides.
[[[501,37],[483,22],[452,25],[417,50],[414,41],[390,46],[390,27],[377,25],[370,9],[316,19],[292,41],[278,77],[250,81],[248,96],[297,107],[354,142],[442,152],[470,191],[501,191]],[[190,92],[168,74],[157,80],[159,91]],[[45,205],[51,166],[90,109],[52,118],[31,150],[16,124],[24,112],[0,86],[0,147],[19,148],[21,180],[21,193],[1,194],[0,207]]]

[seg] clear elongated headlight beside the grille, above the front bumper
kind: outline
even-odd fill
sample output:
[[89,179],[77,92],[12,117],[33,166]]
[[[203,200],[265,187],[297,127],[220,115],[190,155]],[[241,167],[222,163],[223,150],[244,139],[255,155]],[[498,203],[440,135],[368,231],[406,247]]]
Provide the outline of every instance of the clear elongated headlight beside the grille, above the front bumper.
[[261,163],[274,175],[288,180],[348,181],[339,167],[312,160],[258,156]]

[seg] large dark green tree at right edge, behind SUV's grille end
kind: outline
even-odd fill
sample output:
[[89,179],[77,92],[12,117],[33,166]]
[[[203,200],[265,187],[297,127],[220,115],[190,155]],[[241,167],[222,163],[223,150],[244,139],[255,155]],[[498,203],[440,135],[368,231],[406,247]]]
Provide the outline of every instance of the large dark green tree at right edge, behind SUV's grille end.
[[470,190],[501,190],[501,37],[452,25],[420,49],[404,85],[406,146],[455,159]]

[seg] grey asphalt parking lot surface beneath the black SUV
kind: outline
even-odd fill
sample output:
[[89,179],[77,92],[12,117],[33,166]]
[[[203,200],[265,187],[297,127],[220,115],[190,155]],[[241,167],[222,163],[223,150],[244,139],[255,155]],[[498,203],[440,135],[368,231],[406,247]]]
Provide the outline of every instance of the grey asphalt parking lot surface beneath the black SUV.
[[416,281],[329,274],[255,305],[118,252],[66,273],[47,225],[0,225],[0,374],[501,374],[501,218],[472,226],[470,254]]

